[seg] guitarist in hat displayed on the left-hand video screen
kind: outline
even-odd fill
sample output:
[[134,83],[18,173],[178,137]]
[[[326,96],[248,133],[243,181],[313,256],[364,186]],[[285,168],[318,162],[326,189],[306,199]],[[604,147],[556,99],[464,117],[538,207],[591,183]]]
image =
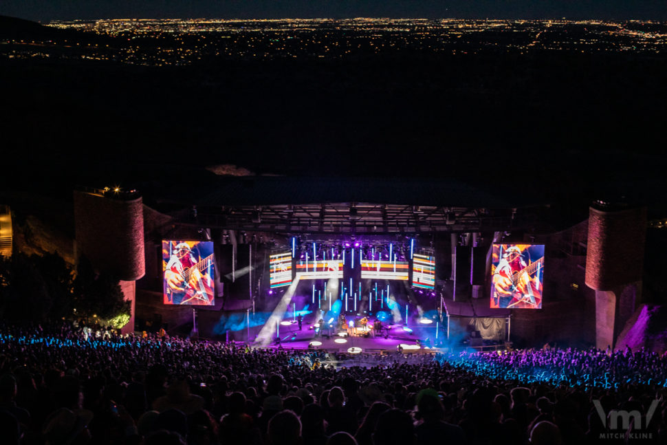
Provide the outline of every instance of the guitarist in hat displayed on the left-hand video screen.
[[212,255],[204,260],[197,261],[188,243],[178,243],[171,255],[171,259],[164,270],[166,294],[169,303],[175,305],[208,305],[208,295],[211,286],[207,286],[204,275],[200,272],[202,263],[212,261]]

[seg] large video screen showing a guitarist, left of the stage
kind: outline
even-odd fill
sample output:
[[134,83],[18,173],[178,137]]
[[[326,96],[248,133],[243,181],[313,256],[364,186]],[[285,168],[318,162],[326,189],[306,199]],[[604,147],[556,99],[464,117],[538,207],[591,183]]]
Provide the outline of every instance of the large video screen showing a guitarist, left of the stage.
[[164,304],[215,303],[212,241],[162,241]]

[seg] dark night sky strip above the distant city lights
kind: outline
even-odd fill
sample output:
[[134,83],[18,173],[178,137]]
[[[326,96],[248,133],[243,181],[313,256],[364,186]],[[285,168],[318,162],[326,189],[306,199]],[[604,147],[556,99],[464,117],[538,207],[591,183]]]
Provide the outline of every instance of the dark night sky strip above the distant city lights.
[[664,0],[3,0],[0,14],[36,21],[190,17],[667,20]]

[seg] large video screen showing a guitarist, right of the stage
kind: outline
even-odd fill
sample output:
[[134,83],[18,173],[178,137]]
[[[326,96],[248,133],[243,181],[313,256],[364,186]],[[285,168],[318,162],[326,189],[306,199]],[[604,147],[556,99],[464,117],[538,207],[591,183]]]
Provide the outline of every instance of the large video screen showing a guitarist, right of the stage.
[[544,283],[543,244],[494,244],[491,307],[541,309]]

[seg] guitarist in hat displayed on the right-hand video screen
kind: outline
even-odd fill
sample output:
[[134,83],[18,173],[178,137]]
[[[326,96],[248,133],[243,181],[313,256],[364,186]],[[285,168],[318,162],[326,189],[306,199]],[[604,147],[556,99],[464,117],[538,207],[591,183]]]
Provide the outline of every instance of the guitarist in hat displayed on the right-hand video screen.
[[[534,266],[541,265],[543,258]],[[535,267],[533,267],[535,268]],[[542,290],[538,276],[531,277],[531,266],[521,256],[521,250],[510,246],[505,250],[493,274],[494,299],[497,307],[540,307]]]

